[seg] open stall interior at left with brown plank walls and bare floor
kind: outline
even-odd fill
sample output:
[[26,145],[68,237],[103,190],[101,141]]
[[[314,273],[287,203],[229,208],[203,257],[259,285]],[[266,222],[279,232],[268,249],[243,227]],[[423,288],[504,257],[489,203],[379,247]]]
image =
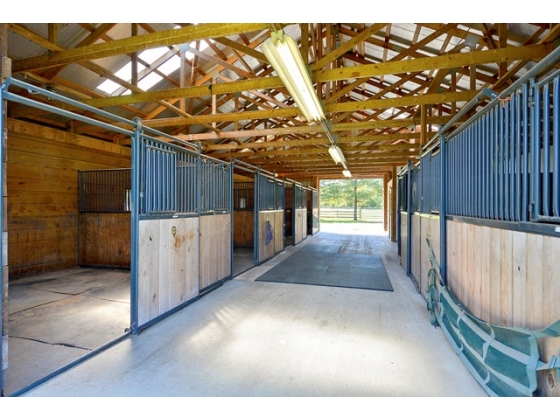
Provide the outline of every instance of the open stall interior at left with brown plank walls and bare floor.
[[128,147],[8,120],[5,394],[99,351],[130,326],[130,169],[112,169],[130,167],[130,155]]

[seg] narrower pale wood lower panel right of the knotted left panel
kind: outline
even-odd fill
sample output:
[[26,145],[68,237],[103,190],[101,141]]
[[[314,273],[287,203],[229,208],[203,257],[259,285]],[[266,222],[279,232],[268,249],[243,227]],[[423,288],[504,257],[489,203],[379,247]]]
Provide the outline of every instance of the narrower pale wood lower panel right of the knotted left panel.
[[200,290],[231,275],[230,214],[200,217]]

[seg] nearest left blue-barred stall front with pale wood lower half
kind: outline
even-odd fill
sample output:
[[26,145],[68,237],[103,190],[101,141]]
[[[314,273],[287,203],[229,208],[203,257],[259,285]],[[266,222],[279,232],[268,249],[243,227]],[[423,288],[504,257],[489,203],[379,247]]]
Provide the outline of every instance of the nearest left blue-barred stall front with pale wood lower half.
[[140,134],[135,151],[134,331],[231,278],[233,184],[231,164],[192,148]]

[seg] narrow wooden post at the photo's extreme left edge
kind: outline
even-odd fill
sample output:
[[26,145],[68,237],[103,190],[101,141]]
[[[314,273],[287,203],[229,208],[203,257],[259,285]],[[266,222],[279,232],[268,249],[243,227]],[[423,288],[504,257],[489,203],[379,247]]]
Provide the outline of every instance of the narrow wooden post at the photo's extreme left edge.
[[[8,25],[5,23],[0,24],[0,60],[2,61],[2,67],[0,70],[0,82],[4,83],[6,78],[12,75],[12,63],[8,58]],[[4,101],[2,104],[2,278],[0,281],[1,288],[1,298],[2,298],[2,326],[0,329],[1,336],[1,346],[2,346],[2,360],[0,369],[2,374],[0,375],[2,380],[0,381],[0,396],[4,395],[4,389],[8,387],[8,197],[7,197],[7,175],[6,171],[8,169],[8,120],[7,120],[7,109],[8,103]]]

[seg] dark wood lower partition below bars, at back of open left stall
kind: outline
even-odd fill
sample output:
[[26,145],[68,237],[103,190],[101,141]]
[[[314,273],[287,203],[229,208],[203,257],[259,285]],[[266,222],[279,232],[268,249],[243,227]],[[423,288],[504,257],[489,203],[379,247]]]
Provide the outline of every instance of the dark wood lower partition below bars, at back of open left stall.
[[130,213],[80,215],[80,265],[130,268]]

